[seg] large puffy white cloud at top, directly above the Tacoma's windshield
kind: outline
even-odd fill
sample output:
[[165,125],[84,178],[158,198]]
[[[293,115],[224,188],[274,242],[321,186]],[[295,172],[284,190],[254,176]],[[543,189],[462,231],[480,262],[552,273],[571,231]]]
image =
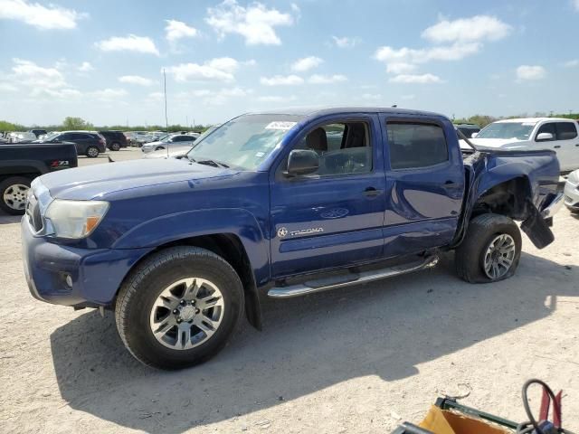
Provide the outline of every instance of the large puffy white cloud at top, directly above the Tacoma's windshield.
[[[292,10],[299,13],[293,6]],[[294,19],[291,14],[268,9],[258,2],[243,7],[235,0],[225,0],[221,5],[207,8],[205,22],[220,37],[227,33],[237,33],[245,38],[247,45],[280,45],[281,40],[274,27],[291,25]]]

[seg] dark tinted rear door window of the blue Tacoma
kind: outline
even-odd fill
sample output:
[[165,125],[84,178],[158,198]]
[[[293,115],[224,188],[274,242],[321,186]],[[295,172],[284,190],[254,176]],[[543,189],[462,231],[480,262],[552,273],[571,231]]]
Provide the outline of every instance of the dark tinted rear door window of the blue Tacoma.
[[386,130],[393,169],[428,167],[449,159],[444,131],[438,125],[389,122]]

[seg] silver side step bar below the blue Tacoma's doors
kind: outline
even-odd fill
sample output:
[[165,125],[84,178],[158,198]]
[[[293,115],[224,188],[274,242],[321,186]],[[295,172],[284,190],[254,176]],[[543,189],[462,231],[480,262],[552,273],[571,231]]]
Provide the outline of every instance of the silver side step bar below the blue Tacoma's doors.
[[421,269],[428,269],[434,267],[438,262],[438,259],[438,256],[429,256],[421,261],[395,265],[385,269],[373,269],[370,271],[362,271],[360,273],[350,273],[343,276],[319,278],[288,287],[275,287],[268,291],[268,296],[272,298],[299,297],[314,292],[327,291],[328,289],[360,285],[362,283],[373,282],[383,278],[392,278],[394,276],[412,273],[413,271]]

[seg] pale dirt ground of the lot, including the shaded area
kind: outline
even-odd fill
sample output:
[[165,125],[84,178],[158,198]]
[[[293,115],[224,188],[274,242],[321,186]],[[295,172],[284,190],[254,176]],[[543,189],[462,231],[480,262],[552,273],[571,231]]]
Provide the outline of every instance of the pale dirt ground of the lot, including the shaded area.
[[524,236],[514,278],[469,285],[448,255],[417,274],[271,301],[261,333],[243,325],[214,360],[176,373],[136,362],[110,313],[34,300],[18,222],[0,215],[2,433],[388,433],[443,394],[521,421],[530,377],[565,390],[564,425],[579,431],[579,219],[567,210],[545,250]]

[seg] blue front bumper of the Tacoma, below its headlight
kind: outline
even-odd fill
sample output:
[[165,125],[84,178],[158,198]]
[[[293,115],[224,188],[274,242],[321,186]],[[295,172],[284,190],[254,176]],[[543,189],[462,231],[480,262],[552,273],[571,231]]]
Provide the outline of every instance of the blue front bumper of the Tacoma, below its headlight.
[[24,275],[30,293],[55,305],[109,306],[128,271],[151,250],[78,249],[56,244],[34,236],[26,216],[21,230]]

